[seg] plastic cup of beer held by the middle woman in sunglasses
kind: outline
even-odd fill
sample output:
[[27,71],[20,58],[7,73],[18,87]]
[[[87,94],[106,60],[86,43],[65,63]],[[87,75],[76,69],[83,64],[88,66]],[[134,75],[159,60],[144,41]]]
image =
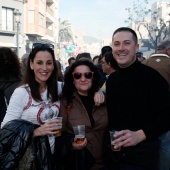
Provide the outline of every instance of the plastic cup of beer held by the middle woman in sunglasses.
[[73,126],[73,130],[76,137],[76,143],[83,143],[83,141],[85,140],[85,125]]

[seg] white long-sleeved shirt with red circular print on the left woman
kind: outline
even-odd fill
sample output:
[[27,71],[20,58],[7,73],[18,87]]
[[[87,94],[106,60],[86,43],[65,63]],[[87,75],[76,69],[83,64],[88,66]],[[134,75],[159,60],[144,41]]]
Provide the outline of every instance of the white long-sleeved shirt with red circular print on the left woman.
[[[62,92],[62,82],[58,82],[58,93]],[[34,124],[42,125],[44,121],[58,116],[60,101],[51,102],[47,98],[47,89],[41,93],[43,101],[37,102],[31,97],[30,88],[28,85],[23,85],[15,89],[11,96],[6,115],[1,123],[3,127],[7,122],[14,119],[23,119]],[[55,137],[49,135],[51,150],[54,150]]]

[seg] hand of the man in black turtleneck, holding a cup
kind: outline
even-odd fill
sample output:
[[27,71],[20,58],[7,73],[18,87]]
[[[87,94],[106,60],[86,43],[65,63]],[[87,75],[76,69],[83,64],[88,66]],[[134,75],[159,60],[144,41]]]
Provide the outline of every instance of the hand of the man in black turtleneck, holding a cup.
[[116,138],[112,144],[115,145],[114,148],[118,149],[119,147],[129,147],[135,146],[138,143],[146,139],[146,136],[143,130],[130,131],[130,130],[121,130],[117,132],[114,137]]

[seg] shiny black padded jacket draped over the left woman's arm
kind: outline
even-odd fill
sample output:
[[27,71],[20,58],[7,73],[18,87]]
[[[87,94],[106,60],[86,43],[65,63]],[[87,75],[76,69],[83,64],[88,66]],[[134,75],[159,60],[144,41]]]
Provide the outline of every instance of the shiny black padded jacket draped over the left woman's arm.
[[13,170],[25,154],[30,144],[34,149],[34,168],[38,170],[53,170],[52,155],[48,137],[32,139],[33,131],[38,125],[25,120],[12,120],[0,131],[0,169]]

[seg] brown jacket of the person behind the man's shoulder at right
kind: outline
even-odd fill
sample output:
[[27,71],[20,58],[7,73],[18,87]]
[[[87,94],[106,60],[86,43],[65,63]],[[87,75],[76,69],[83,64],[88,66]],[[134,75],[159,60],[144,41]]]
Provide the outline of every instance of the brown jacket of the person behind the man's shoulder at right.
[[168,82],[170,91],[170,57],[166,54],[152,54],[142,63],[157,70]]

